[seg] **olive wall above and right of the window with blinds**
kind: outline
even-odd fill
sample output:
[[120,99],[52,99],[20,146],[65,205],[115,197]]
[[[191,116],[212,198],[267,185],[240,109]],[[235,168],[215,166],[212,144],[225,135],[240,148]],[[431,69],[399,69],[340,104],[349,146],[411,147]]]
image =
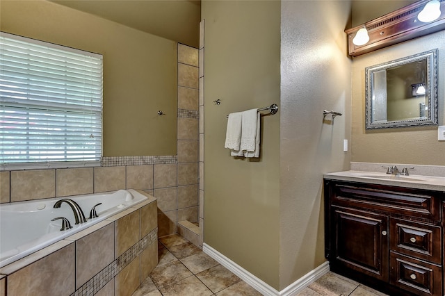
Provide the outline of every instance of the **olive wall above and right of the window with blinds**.
[[1,31],[104,55],[104,156],[176,154],[176,42],[49,1],[0,13]]

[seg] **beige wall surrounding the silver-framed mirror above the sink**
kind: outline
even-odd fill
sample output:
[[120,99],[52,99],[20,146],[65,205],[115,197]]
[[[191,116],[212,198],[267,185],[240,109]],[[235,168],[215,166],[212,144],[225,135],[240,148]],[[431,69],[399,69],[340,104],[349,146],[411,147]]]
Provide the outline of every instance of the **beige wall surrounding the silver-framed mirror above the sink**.
[[364,124],[364,69],[435,48],[439,49],[439,125],[444,125],[445,56],[443,52],[445,51],[445,31],[396,44],[353,59],[352,161],[445,165],[445,141],[437,141],[437,126],[366,131]]

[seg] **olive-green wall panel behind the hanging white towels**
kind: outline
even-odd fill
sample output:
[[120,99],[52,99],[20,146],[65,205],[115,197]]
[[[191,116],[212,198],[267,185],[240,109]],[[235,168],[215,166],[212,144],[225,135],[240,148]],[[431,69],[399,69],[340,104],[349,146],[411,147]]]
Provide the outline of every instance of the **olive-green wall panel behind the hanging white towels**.
[[227,114],[280,104],[280,1],[203,1],[201,15],[204,242],[278,288],[280,111],[261,117],[261,158],[235,159],[224,142]]

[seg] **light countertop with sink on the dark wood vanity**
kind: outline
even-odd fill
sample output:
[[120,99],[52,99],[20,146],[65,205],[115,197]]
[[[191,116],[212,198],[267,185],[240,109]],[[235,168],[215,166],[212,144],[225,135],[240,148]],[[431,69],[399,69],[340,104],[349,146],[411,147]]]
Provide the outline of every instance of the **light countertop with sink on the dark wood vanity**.
[[385,172],[367,172],[350,170],[324,174],[325,179],[339,181],[355,181],[380,185],[399,186],[426,190],[445,191],[445,177],[443,176],[394,176]]

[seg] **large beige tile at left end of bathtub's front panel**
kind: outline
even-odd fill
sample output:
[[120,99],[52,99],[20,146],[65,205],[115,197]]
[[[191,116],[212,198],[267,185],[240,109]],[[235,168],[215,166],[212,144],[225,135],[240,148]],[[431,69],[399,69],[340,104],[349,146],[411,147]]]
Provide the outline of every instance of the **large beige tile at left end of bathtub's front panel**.
[[75,265],[72,242],[63,249],[8,275],[8,295],[71,295],[75,290]]

